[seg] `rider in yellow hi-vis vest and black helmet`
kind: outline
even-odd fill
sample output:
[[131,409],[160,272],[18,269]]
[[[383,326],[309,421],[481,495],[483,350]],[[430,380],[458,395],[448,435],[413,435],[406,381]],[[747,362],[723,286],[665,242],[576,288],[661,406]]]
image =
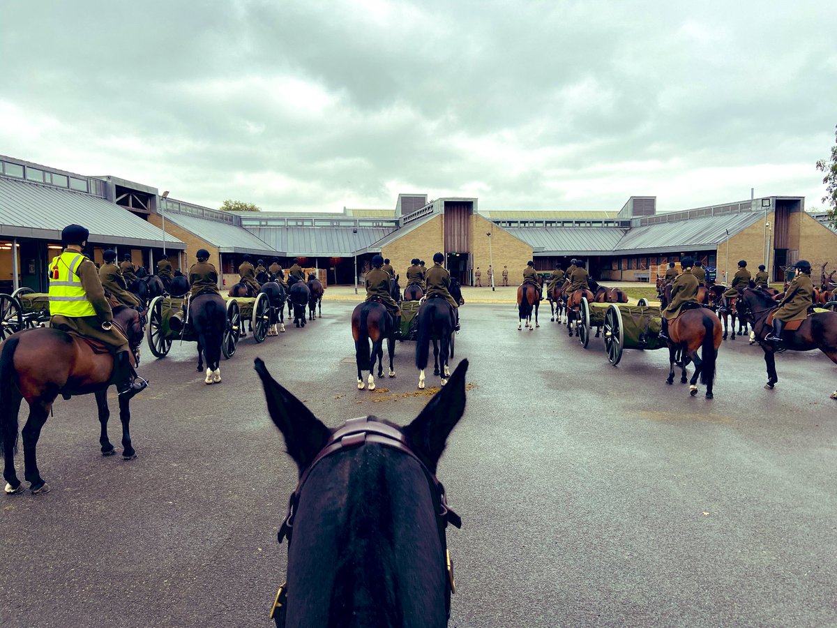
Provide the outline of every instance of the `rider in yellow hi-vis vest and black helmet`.
[[49,266],[49,319],[55,327],[74,336],[103,342],[114,358],[116,390],[124,399],[131,399],[148,386],[136,379],[131,366],[130,347],[126,337],[113,327],[113,311],[105,299],[96,267],[82,251],[90,232],[80,224],[69,224],[61,232],[64,251]]

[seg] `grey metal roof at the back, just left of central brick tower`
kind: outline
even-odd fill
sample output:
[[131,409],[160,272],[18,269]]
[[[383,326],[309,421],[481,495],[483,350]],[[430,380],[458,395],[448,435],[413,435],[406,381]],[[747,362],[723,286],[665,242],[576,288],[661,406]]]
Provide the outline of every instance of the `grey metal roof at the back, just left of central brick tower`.
[[286,255],[308,257],[351,257],[379,251],[373,245],[393,232],[386,227],[247,227],[276,250]]

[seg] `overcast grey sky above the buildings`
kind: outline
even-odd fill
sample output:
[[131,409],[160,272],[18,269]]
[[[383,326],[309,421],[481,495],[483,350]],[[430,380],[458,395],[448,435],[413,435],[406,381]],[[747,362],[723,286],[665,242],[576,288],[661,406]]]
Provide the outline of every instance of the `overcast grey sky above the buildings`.
[[0,154],[218,207],[822,207],[824,2],[5,0]]

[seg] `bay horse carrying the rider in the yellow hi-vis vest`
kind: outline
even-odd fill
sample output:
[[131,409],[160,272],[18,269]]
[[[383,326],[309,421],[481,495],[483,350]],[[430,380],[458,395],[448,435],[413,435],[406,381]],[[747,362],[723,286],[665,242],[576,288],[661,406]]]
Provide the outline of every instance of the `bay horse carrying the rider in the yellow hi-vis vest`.
[[[142,342],[140,315],[134,309],[118,306],[113,310],[114,324],[125,330],[134,363],[139,363]],[[14,454],[18,449],[18,413],[25,399],[29,416],[23,426],[24,479],[34,495],[49,492],[41,477],[35,451],[55,399],[81,394],[95,394],[101,426],[99,443],[102,456],[115,452],[107,435],[110,409],[107,390],[114,381],[115,358],[112,353],[94,348],[83,338],[74,337],[52,327],[24,330],[8,337],[0,344],[0,446],[3,447],[3,477],[10,495],[23,492],[14,468]],[[131,444],[130,399],[119,398],[119,418],[122,424],[122,457],[136,458]]]

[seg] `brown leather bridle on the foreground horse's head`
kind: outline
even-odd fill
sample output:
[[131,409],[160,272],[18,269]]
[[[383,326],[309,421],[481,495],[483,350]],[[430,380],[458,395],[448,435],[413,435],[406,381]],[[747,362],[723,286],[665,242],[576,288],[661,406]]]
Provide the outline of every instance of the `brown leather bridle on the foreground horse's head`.
[[[311,475],[311,471],[317,463],[327,456],[339,454],[341,451],[356,449],[357,447],[366,445],[367,443],[383,445],[391,447],[394,450],[398,450],[417,461],[419,466],[421,466],[422,471],[424,471],[424,476],[427,478],[430,486],[430,493],[433,497],[434,512],[436,514],[436,526],[439,530],[439,541],[442,543],[442,552],[444,554],[444,572],[445,582],[447,584],[444,596],[444,612],[445,615],[450,618],[450,595],[456,593],[456,584],[454,583],[454,564],[450,559],[445,529],[448,527],[449,523],[456,528],[462,528],[462,519],[458,514],[456,514],[456,512],[448,507],[448,501],[442,483],[433,473],[430,472],[424,462],[422,462],[419,456],[417,456],[410,448],[407,437],[403,435],[401,430],[398,430],[392,425],[387,425],[386,423],[374,420],[372,417],[362,416],[357,419],[347,420],[345,425],[331,435],[328,442],[326,442],[326,445],[320,450],[320,453],[314,457],[314,460],[311,461],[308,468],[303,471],[294,492],[290,494],[290,499],[288,500],[288,513],[285,515],[285,519],[282,521],[279,533],[277,534],[279,543],[281,544],[282,541],[287,538],[288,550],[290,552],[290,542],[294,532],[294,519],[296,511],[299,507],[302,487],[305,485],[308,476]],[[280,586],[279,591],[276,593],[273,607],[270,609],[270,619],[275,621],[277,628],[283,628],[285,625],[287,595],[288,586],[285,582],[285,584]]]

